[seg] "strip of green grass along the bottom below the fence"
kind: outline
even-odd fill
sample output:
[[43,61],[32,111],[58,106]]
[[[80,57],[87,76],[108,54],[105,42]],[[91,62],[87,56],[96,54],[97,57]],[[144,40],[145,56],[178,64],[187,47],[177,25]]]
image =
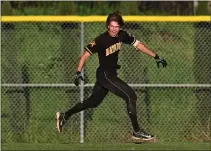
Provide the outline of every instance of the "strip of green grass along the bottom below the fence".
[[210,150],[209,143],[2,144],[2,150]]

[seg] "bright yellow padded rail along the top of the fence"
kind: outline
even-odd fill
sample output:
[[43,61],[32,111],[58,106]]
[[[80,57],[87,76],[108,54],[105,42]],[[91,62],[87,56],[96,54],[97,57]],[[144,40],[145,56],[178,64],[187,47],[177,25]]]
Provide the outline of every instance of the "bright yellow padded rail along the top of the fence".
[[[107,16],[2,16],[2,22],[104,22]],[[210,16],[123,16],[127,22],[210,22]]]

